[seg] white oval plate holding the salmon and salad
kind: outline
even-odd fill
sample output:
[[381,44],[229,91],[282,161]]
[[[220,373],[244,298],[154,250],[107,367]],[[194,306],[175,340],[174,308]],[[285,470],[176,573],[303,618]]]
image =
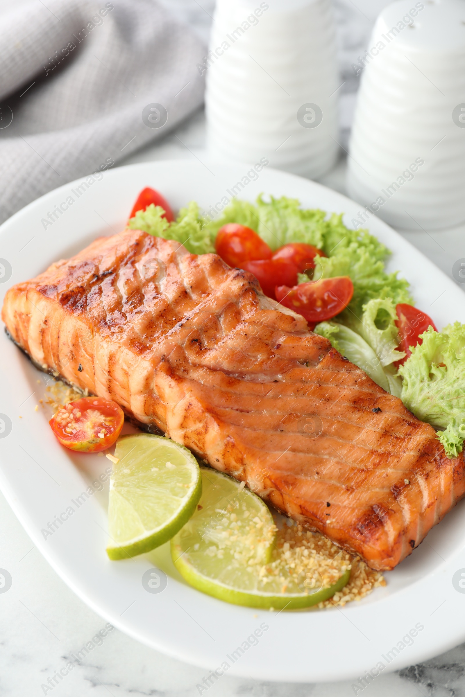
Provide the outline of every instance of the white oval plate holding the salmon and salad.
[[[135,197],[146,185],[159,189],[174,208],[195,199],[208,209],[231,196],[228,191],[247,169],[214,163],[207,168],[179,160],[135,164],[105,173],[87,190],[82,187],[78,199],[81,181],[46,194],[0,228],[0,257],[13,270],[0,285],[1,302],[13,283],[35,276],[98,235],[123,229]],[[260,192],[296,197],[309,208],[345,212],[349,226],[360,210],[333,190],[272,169],[262,171],[240,195],[252,201]],[[42,219],[68,196],[76,199],[73,205],[44,229]],[[454,320],[465,322],[465,296],[448,277],[381,220],[372,217],[369,229],[392,250],[390,268],[410,280],[418,305],[439,328]],[[79,507],[76,502],[109,461],[59,446],[45,410],[34,410],[49,378],[33,368],[3,332],[0,376],[0,413],[13,423],[10,434],[0,438],[0,486],[34,544],[70,588],[113,625],[173,657],[209,671],[219,668],[211,683],[223,670],[257,680],[356,678],[380,661],[384,667],[377,670],[388,672],[464,641],[465,595],[452,586],[452,575],[462,567],[465,572],[464,505],[386,574],[386,588],[376,589],[363,602],[344,610],[292,613],[228,605],[185,585],[171,566],[166,546],[135,560],[107,559],[106,488],[89,498],[82,496]],[[61,525],[56,523],[56,531],[45,539],[41,531],[69,506],[75,512]],[[167,572],[167,587],[146,592],[142,575],[155,566]],[[247,641],[260,625],[267,629],[262,628],[258,640]],[[416,625],[423,629],[415,630]],[[402,641],[411,629],[416,636]],[[231,657],[238,647],[243,653]],[[225,662],[228,666],[221,668]]]

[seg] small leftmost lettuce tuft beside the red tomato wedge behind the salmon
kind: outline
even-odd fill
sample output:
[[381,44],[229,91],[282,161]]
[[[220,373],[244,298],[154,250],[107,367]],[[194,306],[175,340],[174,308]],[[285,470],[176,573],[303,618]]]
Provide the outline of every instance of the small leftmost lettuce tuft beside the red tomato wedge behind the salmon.
[[144,230],[154,237],[176,240],[192,254],[215,252],[214,238],[195,201],[190,201],[187,208],[181,208],[174,222],[169,223],[162,213],[165,213],[163,208],[151,204],[146,210],[138,210],[128,226],[132,230]]

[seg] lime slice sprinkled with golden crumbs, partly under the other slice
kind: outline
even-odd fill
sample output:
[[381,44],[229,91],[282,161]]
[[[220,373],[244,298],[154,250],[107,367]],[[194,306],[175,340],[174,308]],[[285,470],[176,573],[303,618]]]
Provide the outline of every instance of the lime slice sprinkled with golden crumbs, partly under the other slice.
[[243,484],[209,468],[201,476],[197,511],[171,539],[171,558],[190,585],[236,605],[291,609],[322,602],[349,581],[349,563],[319,556],[312,533],[286,542],[289,528],[277,532],[268,507]]

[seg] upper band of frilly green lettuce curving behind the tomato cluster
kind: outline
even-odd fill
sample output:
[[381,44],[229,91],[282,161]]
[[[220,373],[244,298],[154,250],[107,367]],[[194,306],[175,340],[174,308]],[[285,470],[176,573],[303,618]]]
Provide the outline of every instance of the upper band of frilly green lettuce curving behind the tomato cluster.
[[[300,208],[298,199],[282,196],[266,201],[259,196],[255,204],[233,199],[215,220],[199,213],[194,201],[181,210],[178,219],[169,224],[161,217],[162,208],[148,206],[139,210],[129,222],[132,229],[142,229],[151,235],[177,240],[190,252],[214,252],[215,236],[228,222],[238,222],[255,230],[272,250],[289,242],[305,242],[323,250],[327,257],[315,257],[313,279],[349,276],[353,282],[353,298],[341,320],[350,325],[348,315],[360,319],[363,305],[373,298],[391,298],[397,302],[412,302],[409,283],[386,273],[384,263],[389,250],[367,230],[351,230],[342,222],[342,215],[330,215],[319,209]],[[299,282],[307,282],[306,275]]]

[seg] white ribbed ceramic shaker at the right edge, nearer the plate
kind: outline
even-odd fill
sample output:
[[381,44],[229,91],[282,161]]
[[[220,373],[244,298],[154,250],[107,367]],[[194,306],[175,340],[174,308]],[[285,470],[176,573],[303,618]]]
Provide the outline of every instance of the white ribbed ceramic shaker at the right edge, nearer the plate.
[[379,15],[365,56],[349,195],[394,227],[465,220],[465,2],[399,0]]

